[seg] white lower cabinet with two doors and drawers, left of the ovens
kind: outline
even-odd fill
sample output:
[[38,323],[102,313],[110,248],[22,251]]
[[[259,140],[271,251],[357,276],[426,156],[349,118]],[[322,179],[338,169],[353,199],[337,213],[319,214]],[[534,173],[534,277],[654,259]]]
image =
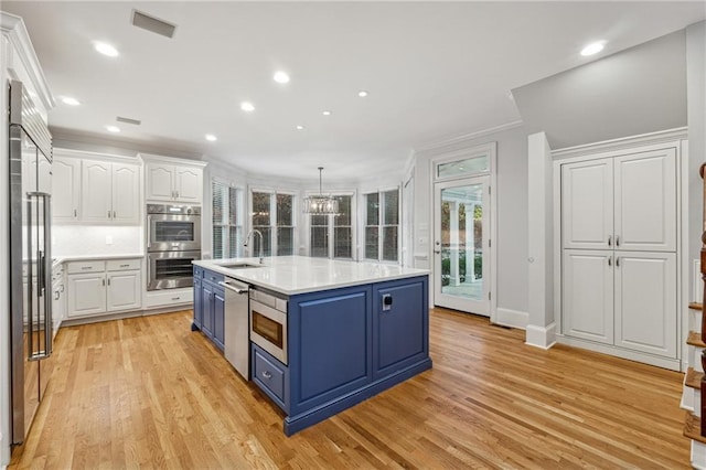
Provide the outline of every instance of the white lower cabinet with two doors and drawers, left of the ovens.
[[68,318],[140,309],[141,278],[141,258],[67,263]]

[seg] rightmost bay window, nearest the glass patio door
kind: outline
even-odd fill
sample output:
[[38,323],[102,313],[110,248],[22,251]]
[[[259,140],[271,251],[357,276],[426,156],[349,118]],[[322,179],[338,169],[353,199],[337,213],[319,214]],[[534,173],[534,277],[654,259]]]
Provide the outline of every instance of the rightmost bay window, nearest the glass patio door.
[[399,257],[399,190],[365,194],[365,259]]

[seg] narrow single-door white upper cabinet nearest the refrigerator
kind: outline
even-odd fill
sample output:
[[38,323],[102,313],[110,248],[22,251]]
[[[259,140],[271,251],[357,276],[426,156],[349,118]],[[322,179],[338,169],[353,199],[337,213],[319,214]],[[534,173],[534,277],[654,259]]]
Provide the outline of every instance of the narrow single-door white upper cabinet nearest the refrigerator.
[[81,160],[55,157],[52,172],[52,216],[55,222],[75,222],[81,205]]

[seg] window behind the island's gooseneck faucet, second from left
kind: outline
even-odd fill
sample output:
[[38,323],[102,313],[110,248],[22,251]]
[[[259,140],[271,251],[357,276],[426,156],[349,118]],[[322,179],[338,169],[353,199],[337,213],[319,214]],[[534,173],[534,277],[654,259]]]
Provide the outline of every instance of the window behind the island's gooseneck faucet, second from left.
[[[287,193],[253,191],[252,226],[263,234],[264,256],[295,254],[295,196]],[[259,238],[254,237],[252,254],[259,253]]]

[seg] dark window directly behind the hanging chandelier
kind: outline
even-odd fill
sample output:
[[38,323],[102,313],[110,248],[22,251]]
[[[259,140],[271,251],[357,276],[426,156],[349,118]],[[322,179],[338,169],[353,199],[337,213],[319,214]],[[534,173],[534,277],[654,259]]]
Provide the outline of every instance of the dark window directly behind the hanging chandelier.
[[309,217],[309,254],[321,258],[352,259],[353,195],[334,197],[339,201],[339,214]]

